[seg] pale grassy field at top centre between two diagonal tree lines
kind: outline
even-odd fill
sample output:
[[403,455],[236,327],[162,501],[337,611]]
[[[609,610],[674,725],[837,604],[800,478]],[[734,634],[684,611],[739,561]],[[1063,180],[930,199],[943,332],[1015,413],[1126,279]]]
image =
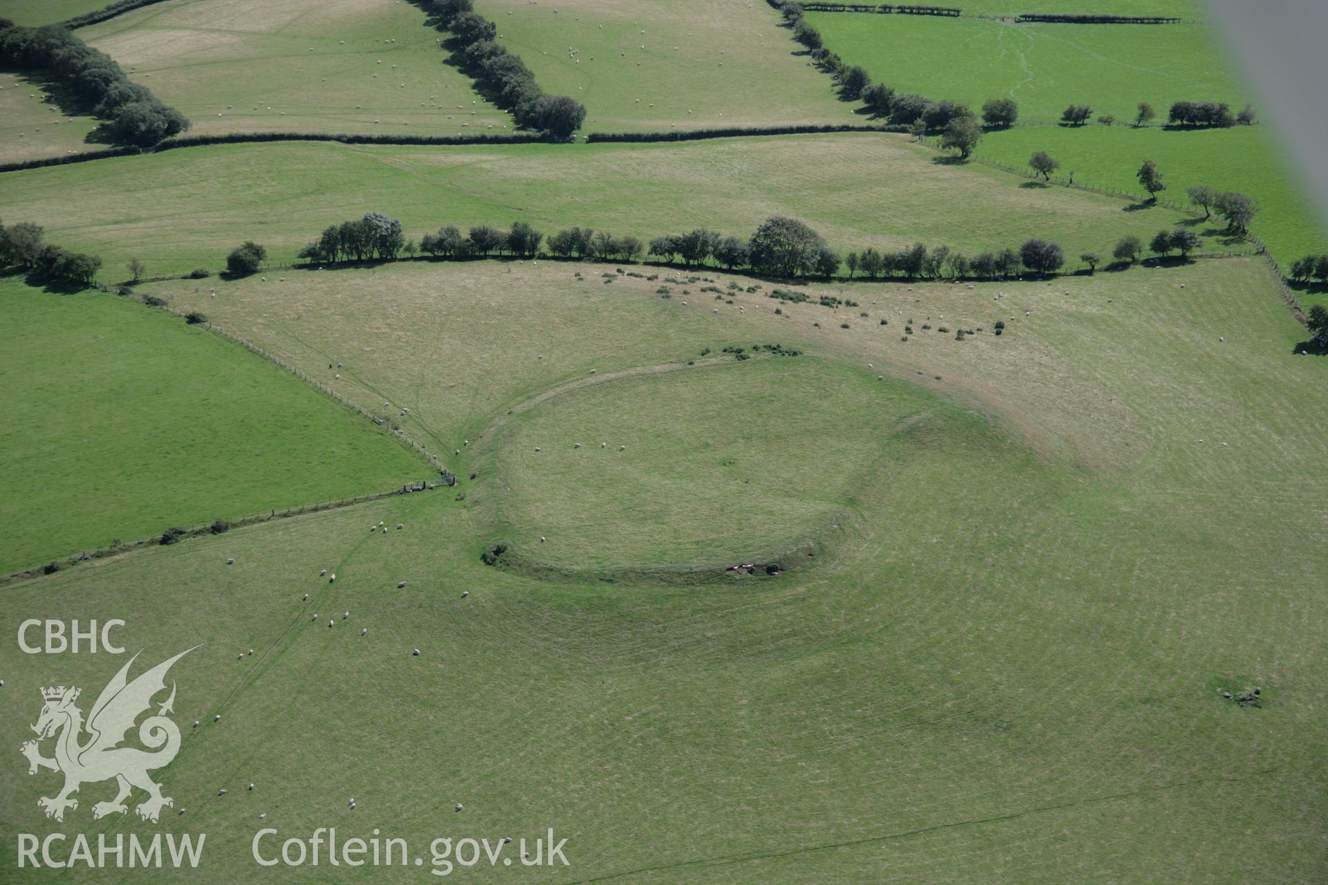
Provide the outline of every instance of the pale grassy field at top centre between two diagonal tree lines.
[[586,131],[851,123],[766,3],[479,0],[544,92],[586,105]]

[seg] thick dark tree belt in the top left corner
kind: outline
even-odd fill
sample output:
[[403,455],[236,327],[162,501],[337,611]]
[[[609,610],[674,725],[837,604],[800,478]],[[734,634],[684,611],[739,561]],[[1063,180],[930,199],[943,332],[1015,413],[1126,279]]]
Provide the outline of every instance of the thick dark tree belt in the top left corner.
[[147,147],[189,129],[189,119],[130,82],[120,65],[60,25],[24,28],[0,19],[0,62],[54,77],[92,107],[118,143]]

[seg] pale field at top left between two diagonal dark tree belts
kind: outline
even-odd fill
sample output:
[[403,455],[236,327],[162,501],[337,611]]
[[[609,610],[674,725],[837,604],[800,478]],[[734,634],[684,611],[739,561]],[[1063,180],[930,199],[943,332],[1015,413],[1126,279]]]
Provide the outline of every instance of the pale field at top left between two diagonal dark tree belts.
[[194,134],[463,135],[511,125],[444,64],[441,34],[408,3],[175,0],[78,36],[183,111]]

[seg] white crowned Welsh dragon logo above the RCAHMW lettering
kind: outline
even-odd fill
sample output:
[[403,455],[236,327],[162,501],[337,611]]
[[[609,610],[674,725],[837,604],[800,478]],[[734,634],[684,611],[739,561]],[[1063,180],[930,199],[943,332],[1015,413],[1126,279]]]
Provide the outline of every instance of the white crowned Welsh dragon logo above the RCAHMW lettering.
[[[167,713],[174,713],[171,709],[171,705],[175,703],[174,682],[171,682],[170,697],[157,710],[157,715],[147,716],[138,726],[138,739],[143,746],[157,752],[118,744],[134,727],[134,720],[138,719],[139,714],[151,709],[153,695],[166,689],[166,671],[193,650],[186,649],[174,658],[158,663],[133,682],[127,682],[125,677],[129,673],[129,666],[138,658],[135,654],[102,689],[97,703],[92,705],[86,726],[84,726],[82,711],[74,706],[81,689],[60,686],[41,690],[41,697],[46,703],[41,709],[37,724],[32,726],[32,730],[37,732],[37,740],[25,742],[20,751],[28,758],[29,775],[37,774],[39,768],[65,772],[64,789],[54,796],[42,796],[37,800],[37,805],[46,811],[46,817],[62,821],[66,808],[78,808],[78,800],[70,799],[70,795],[78,792],[80,785],[112,778],[120,784],[120,792],[113,800],[93,805],[93,817],[129,811],[125,807],[125,799],[131,787],[147,791],[147,800],[135,808],[143,820],[155,824],[162,808],[174,804],[169,796],[162,796],[161,784],[147,776],[149,771],[170,764],[175,754],[179,752],[179,728],[166,718]],[[78,738],[85,730],[90,738],[86,743],[80,743]],[[54,759],[44,758],[39,750],[39,742],[50,736],[56,736]]]

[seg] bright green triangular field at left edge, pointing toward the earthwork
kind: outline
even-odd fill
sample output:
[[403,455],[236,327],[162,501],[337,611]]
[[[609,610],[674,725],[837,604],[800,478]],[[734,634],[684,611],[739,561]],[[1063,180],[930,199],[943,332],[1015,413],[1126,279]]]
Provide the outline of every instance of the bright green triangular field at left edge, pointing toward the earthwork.
[[0,316],[3,573],[428,472],[364,418],[182,318],[17,281]]

